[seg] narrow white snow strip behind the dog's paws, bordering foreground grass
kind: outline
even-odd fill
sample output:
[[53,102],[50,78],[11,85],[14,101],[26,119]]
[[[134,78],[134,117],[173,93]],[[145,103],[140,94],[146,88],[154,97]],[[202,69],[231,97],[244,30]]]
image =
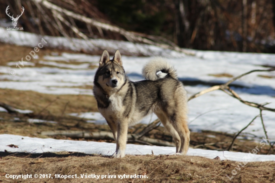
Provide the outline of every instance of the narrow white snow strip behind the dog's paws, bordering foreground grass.
[[[23,138],[23,139],[22,139]],[[18,148],[6,146],[8,144],[18,145]],[[58,151],[75,151],[87,154],[111,155],[115,150],[115,143],[95,142],[95,141],[77,141],[77,140],[57,140],[52,138],[36,138],[12,134],[0,134],[0,151],[10,152],[29,152],[44,153]],[[175,153],[175,147],[150,146],[127,144],[125,154],[155,155]],[[274,161],[275,155],[259,155],[243,152],[203,150],[189,148],[187,155],[196,155],[207,158],[219,156],[221,160],[228,159],[234,161]]]

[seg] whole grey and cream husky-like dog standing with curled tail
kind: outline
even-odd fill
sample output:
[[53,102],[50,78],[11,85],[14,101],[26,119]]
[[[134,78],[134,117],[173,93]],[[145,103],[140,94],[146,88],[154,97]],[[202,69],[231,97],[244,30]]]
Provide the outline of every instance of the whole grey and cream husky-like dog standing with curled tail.
[[[159,73],[159,71],[161,71]],[[187,99],[176,70],[163,58],[155,57],[142,69],[146,80],[132,82],[125,75],[118,50],[109,59],[103,51],[94,77],[93,93],[98,110],[105,117],[116,141],[113,157],[124,157],[128,126],[154,112],[171,133],[176,154],[189,146]]]

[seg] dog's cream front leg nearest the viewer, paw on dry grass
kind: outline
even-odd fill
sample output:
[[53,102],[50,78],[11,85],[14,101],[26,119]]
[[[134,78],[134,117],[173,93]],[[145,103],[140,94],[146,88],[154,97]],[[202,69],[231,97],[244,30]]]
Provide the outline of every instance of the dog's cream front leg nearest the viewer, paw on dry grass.
[[116,150],[112,154],[113,157],[124,157],[127,141],[128,120],[119,121],[117,124],[117,140]]

